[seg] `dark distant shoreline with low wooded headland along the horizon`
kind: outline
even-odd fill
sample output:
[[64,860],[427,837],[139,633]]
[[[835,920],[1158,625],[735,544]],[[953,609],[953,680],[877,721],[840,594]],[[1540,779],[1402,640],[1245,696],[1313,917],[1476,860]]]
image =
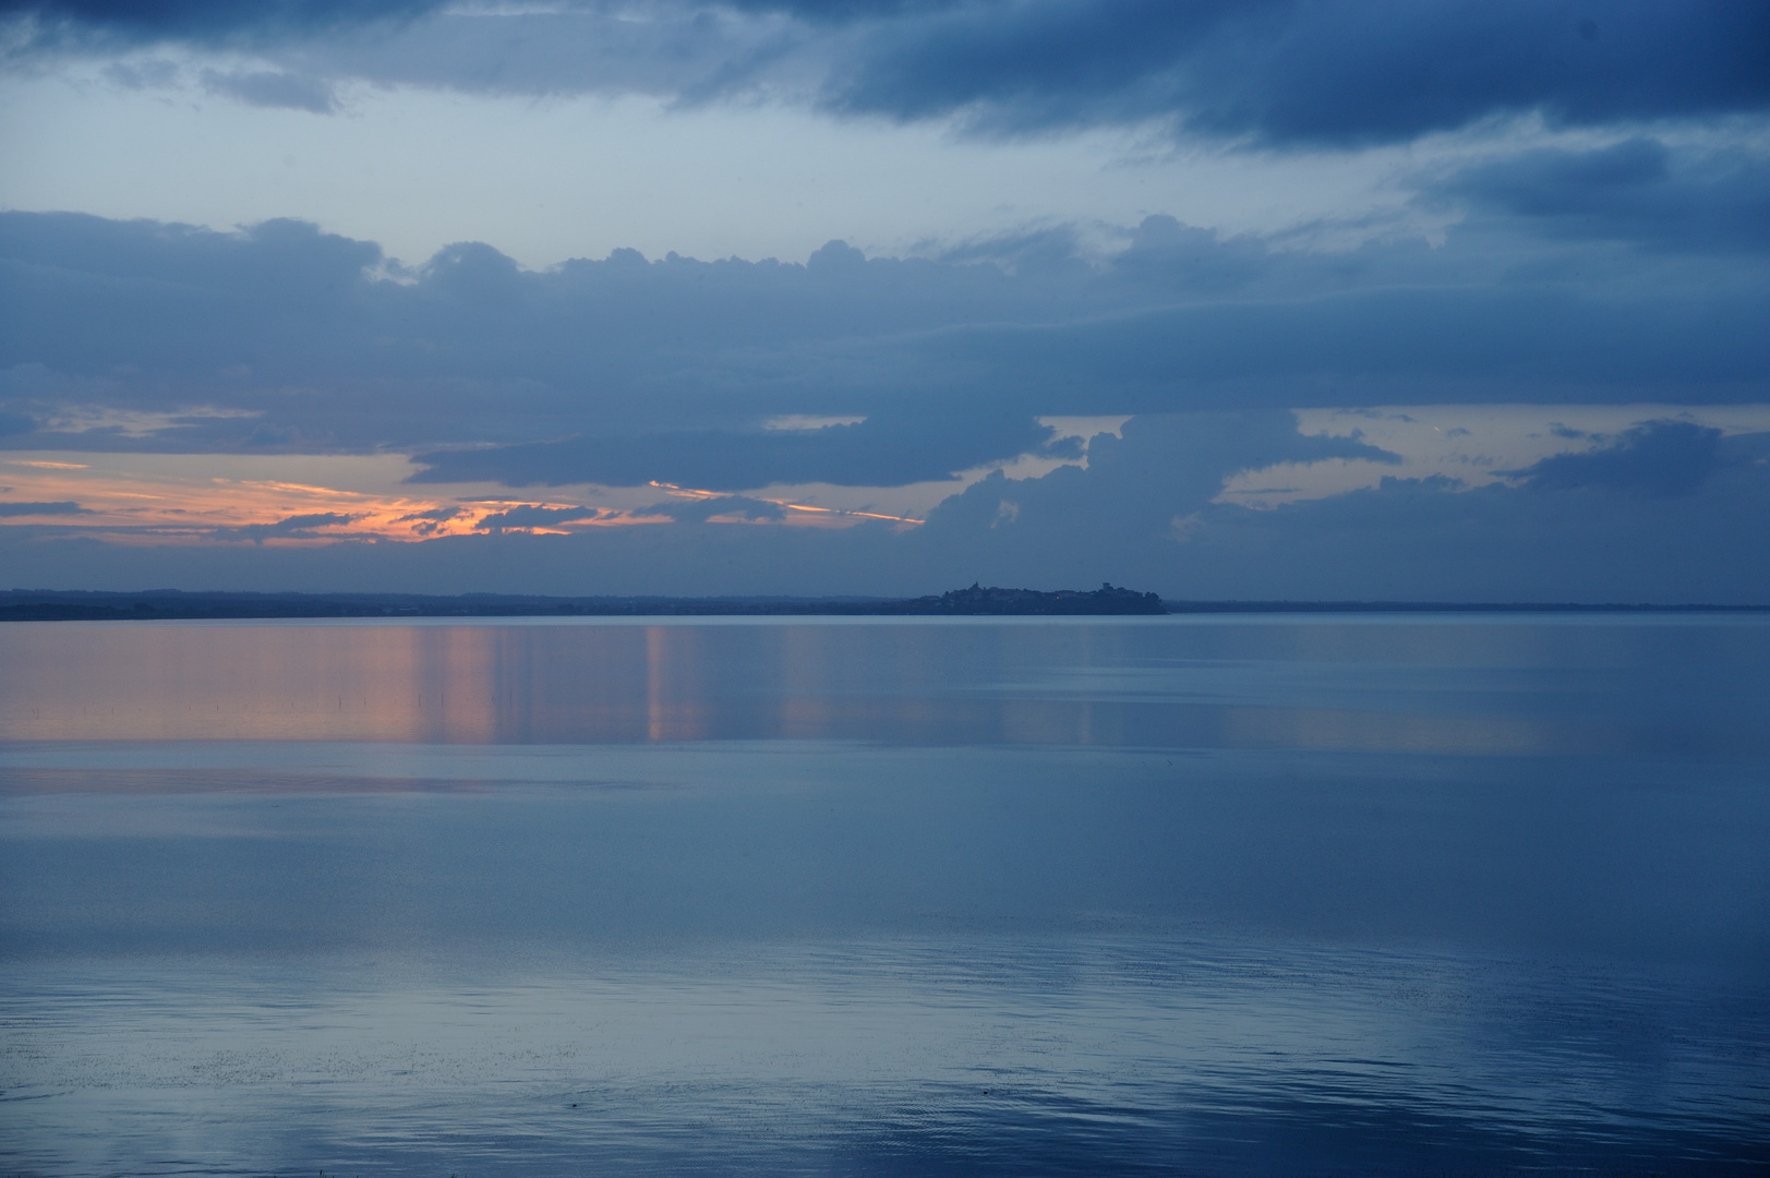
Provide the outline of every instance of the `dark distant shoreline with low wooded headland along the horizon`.
[[1770,613],[1770,606],[1623,602],[1163,601],[1103,586],[956,590],[940,597],[542,597],[0,590],[0,622],[253,618],[1136,616],[1258,613]]

